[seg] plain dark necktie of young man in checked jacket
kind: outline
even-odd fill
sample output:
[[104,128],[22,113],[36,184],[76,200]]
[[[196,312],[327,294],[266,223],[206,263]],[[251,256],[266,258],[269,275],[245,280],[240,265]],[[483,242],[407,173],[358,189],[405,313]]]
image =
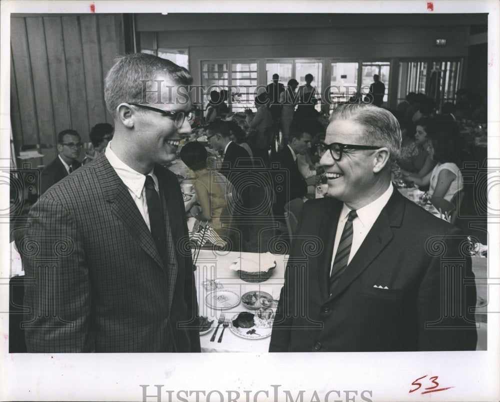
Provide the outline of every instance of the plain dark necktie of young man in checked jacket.
[[147,203],[147,215],[149,216],[149,226],[151,228],[151,235],[156,244],[156,249],[166,267],[168,258],[166,256],[166,237],[165,226],[163,223],[163,212],[161,210],[161,203],[159,195],[154,188],[154,181],[151,176],[146,176],[144,183]]

